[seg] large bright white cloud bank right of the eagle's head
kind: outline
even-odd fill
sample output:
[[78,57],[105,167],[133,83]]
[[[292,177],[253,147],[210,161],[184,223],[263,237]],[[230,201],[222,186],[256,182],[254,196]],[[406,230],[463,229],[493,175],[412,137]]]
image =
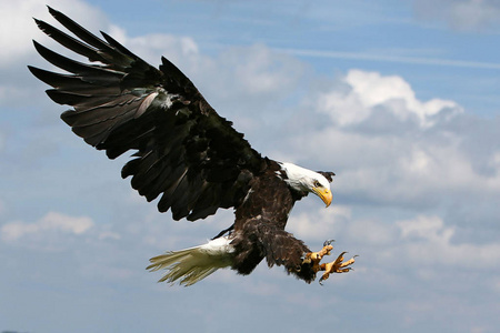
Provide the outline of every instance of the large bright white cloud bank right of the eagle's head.
[[339,81],[306,104],[329,121],[286,140],[298,162],[314,159],[336,171],[342,198],[422,208],[474,201],[472,193],[500,196],[494,121],[470,122],[450,100],[421,100],[398,75],[350,70]]

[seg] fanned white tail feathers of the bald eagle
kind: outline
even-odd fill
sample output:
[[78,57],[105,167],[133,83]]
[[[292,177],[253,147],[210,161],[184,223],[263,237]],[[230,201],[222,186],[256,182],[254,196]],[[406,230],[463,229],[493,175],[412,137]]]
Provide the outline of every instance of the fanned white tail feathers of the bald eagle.
[[207,244],[180,251],[169,251],[151,258],[147,270],[167,270],[158,282],[169,282],[186,286],[197,283],[216,272],[218,269],[232,264],[234,249],[227,236],[209,241]]

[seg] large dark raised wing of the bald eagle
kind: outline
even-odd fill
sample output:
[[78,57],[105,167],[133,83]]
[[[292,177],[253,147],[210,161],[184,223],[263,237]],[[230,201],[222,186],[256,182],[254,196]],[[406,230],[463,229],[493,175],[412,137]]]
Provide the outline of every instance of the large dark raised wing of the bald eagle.
[[84,56],[81,63],[33,41],[49,62],[69,73],[29,67],[53,89],[48,95],[73,107],[61,114],[73,132],[110,159],[137,151],[122,169],[148,201],[161,194],[160,212],[194,221],[230,208],[247,194],[263,159],[217,114],[192,82],[162,58],[156,69],[101,32],[96,37],[63,13],[50,13],[74,37],[36,20],[63,47]]

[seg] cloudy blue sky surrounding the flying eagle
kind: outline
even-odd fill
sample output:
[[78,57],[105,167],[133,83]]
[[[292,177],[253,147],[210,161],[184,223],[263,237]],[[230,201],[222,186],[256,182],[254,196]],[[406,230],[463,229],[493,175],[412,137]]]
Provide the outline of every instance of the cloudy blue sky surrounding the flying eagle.
[[[0,0],[0,332],[496,332],[500,325],[497,0]],[[287,230],[359,254],[321,286],[261,263],[190,287],[151,256],[231,210],[160,214],[59,119],[27,64],[44,4],[164,56],[272,159],[336,172]],[[57,26],[57,24],[56,24]],[[68,54],[66,52],[66,54]]]

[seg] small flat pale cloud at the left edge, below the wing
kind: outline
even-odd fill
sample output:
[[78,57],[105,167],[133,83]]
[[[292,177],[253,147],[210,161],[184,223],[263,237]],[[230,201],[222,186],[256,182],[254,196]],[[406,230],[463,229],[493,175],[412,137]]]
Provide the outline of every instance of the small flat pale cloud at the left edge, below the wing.
[[43,236],[44,233],[61,232],[80,235],[93,226],[88,216],[70,216],[58,212],[49,212],[33,223],[20,221],[9,222],[1,226],[0,238],[4,242],[14,242],[27,236]]

